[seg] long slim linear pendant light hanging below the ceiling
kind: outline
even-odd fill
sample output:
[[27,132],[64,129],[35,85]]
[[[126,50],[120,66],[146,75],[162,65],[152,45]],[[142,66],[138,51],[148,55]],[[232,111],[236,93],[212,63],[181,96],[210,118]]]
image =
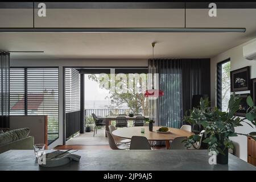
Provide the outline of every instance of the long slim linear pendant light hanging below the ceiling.
[[245,32],[246,28],[0,28],[0,32]]

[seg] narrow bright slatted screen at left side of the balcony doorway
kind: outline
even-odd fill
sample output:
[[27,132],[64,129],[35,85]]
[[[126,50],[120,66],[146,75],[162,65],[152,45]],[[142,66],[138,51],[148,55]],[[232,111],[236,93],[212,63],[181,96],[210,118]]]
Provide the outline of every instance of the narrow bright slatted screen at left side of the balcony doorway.
[[65,69],[65,112],[80,111],[80,74],[76,69]]

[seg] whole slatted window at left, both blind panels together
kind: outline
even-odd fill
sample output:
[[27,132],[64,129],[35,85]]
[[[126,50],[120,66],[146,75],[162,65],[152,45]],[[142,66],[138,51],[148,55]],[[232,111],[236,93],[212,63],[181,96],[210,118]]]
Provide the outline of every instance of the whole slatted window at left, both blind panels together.
[[25,109],[27,115],[48,115],[48,144],[59,137],[58,68],[10,69],[10,115],[24,115]]

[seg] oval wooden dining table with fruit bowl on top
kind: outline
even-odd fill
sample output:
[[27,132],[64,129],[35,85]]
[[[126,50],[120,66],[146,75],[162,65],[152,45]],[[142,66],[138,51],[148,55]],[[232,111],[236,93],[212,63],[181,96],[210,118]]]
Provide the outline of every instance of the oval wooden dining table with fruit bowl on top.
[[[144,128],[144,133],[141,133],[141,129]],[[175,129],[173,127],[168,127],[171,133],[161,134],[157,133],[159,126],[154,126],[153,131],[149,131],[148,126],[135,126],[135,127],[123,127],[112,132],[113,135],[117,137],[131,139],[133,136],[146,137],[151,141],[165,141],[166,148],[170,148],[170,140],[174,140],[176,137],[189,137],[194,135],[194,133],[189,131],[184,131],[180,129]]]

